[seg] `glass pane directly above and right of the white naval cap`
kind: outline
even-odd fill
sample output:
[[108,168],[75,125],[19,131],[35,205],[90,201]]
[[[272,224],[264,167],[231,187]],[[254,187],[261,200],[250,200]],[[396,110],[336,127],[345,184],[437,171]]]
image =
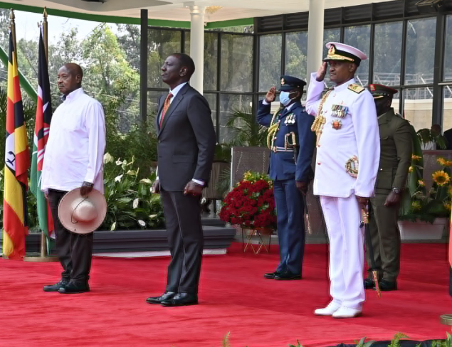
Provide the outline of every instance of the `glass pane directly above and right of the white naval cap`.
[[[370,54],[370,25],[367,26],[349,26],[344,31],[344,43],[362,50],[369,57]],[[369,84],[369,59],[362,60],[355,80],[363,87]]]

